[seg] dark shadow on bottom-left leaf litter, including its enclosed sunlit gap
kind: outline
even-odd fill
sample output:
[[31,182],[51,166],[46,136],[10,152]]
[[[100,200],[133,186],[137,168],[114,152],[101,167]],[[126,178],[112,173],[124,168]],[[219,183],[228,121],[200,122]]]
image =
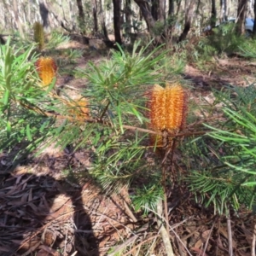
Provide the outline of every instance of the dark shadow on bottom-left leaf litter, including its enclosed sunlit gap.
[[22,166],[15,173],[0,171],[0,255],[99,255],[82,201],[88,186],[22,173]]

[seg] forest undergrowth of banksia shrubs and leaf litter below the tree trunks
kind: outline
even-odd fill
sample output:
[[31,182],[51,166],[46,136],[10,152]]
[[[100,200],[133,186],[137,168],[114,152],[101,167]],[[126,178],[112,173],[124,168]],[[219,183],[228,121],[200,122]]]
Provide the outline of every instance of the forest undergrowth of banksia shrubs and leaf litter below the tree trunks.
[[1,255],[253,255],[253,40],[205,40],[1,46]]

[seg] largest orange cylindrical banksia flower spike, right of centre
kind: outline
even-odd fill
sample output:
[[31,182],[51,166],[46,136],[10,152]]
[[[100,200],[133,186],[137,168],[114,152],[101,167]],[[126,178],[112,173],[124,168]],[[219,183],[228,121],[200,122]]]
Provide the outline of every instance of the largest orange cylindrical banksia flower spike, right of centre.
[[[180,84],[166,84],[166,88],[154,85],[149,102],[150,129],[173,133],[183,129],[186,118],[187,97]],[[162,146],[162,136],[154,137]]]

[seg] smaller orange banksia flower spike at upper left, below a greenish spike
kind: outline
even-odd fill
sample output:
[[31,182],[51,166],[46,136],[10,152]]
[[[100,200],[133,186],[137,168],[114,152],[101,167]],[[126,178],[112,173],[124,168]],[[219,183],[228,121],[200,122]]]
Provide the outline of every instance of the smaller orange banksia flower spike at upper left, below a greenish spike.
[[57,66],[51,57],[40,57],[36,62],[38,74],[44,86],[49,85],[55,78]]

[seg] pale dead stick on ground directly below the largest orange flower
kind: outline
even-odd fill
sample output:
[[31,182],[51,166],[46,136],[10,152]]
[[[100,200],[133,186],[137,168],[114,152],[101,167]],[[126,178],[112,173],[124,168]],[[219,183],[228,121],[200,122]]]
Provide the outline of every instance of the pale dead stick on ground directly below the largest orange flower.
[[163,201],[160,199],[158,202],[157,202],[157,208],[156,208],[156,211],[157,211],[157,215],[158,215],[158,219],[157,219],[157,225],[159,226],[160,228],[160,235],[162,237],[162,241],[164,243],[164,246],[166,248],[166,255],[167,256],[174,256],[173,254],[173,250],[172,250],[172,244],[171,244],[171,241],[170,241],[170,238],[169,238],[169,234],[163,224],[163,218],[162,218],[162,213],[163,213]]

